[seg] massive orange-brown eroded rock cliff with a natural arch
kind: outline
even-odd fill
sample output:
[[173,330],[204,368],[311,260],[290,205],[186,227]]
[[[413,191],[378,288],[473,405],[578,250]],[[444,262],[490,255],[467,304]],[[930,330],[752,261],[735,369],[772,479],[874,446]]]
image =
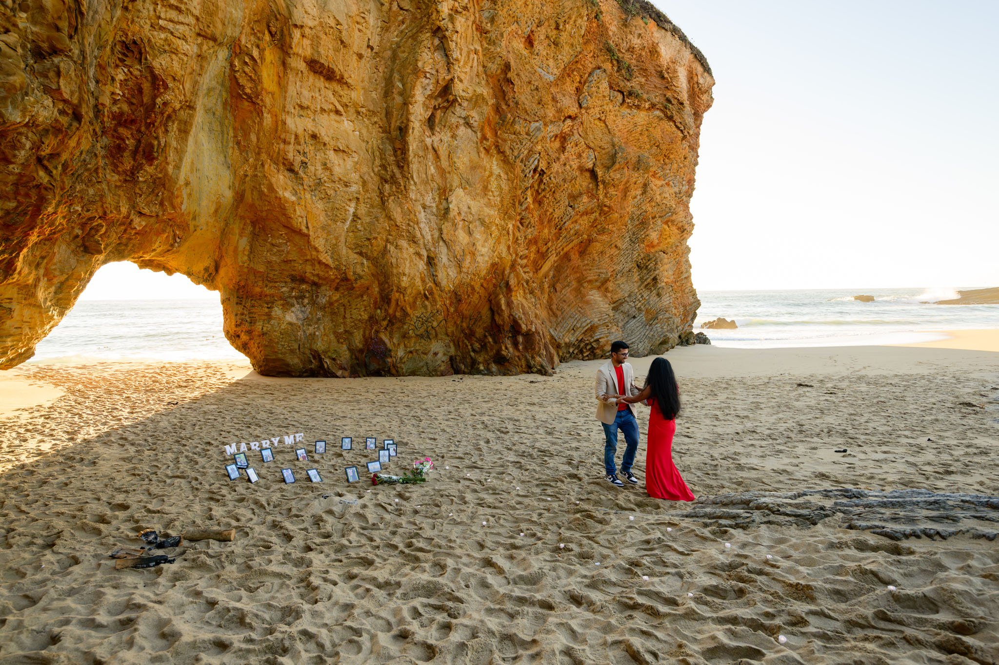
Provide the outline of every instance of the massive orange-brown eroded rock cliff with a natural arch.
[[691,328],[713,80],[648,7],[20,8],[0,4],[4,368],[124,259],[221,291],[264,374],[548,372]]

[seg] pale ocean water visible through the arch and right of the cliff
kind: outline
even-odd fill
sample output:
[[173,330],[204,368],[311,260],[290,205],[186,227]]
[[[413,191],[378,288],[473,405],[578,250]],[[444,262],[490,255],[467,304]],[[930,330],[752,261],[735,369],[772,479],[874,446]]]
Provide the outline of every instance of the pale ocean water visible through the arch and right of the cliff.
[[[873,295],[874,302],[853,296]],[[936,305],[952,290],[699,291],[694,329],[723,316],[736,330],[707,330],[723,347],[849,346],[940,339],[934,331],[999,329],[999,305]],[[34,361],[244,360],[222,334],[217,300],[81,300],[42,340]]]

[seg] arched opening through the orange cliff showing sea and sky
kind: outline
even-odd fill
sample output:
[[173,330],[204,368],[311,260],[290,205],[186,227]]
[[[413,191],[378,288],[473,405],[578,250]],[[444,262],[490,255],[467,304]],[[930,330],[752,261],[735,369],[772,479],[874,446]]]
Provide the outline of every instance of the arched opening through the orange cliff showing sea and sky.
[[223,333],[219,293],[182,274],[102,266],[34,360],[246,360]]

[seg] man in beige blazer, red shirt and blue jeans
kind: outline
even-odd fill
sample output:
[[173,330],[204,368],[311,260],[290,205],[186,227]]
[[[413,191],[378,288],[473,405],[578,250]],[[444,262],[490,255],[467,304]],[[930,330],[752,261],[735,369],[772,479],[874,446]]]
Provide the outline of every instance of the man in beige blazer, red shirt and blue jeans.
[[603,425],[606,443],[603,446],[603,467],[606,480],[618,488],[624,483],[617,478],[614,456],[617,454],[617,430],[624,433],[624,457],[621,459],[621,476],[632,485],[638,479],[631,473],[634,455],[638,452],[638,421],[634,418],[634,406],[618,403],[612,395],[631,397],[638,394],[634,386],[634,371],[627,363],[628,348],[624,342],[610,345],[610,361],[596,371],[596,419]]

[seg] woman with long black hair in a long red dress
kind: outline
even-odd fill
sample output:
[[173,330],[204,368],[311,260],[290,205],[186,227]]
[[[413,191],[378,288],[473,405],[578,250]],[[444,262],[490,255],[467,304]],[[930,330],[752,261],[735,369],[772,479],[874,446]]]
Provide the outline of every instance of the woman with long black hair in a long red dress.
[[673,464],[673,434],[676,433],[676,414],[680,411],[680,393],[673,368],[665,358],[652,361],[640,393],[618,399],[628,404],[644,400],[648,400],[647,404],[652,408],[648,414],[645,492],[655,499],[692,501],[693,493]]

